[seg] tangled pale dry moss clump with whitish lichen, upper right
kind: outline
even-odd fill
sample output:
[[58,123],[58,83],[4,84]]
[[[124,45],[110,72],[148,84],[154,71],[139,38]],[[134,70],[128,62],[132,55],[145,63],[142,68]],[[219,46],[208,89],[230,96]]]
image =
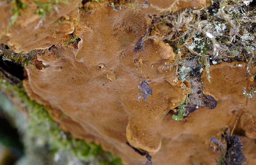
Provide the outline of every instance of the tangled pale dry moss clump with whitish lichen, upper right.
[[248,73],[250,66],[256,66],[256,7],[251,1],[213,0],[207,9],[187,9],[177,14],[172,14],[171,8],[139,6],[163,11],[164,14],[152,17],[150,35],[142,37],[144,41],[155,39],[168,43],[179,55],[176,56],[179,67],[185,61],[198,59],[210,81],[209,66],[221,61],[246,62]]

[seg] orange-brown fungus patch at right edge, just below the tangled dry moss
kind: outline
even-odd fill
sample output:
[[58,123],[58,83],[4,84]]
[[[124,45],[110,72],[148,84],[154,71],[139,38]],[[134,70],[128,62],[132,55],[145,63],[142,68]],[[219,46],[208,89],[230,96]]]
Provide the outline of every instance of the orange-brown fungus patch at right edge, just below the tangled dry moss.
[[[247,97],[244,97],[242,92],[242,88],[245,87],[247,92],[249,92],[249,87],[252,85],[256,87],[255,81],[250,81],[250,75],[246,73],[246,63],[240,63],[241,67],[232,68],[235,62],[227,63],[222,62],[219,65],[214,65],[210,70],[211,76],[214,74],[218,75],[214,82],[205,81],[206,72],[203,72],[202,81],[204,83],[204,94],[211,95],[217,101],[222,97],[230,97],[234,102],[238,101],[239,103],[245,102],[246,100],[250,100]],[[237,64],[238,65],[238,64]],[[225,72],[224,72],[225,71]],[[256,71],[256,68],[251,69],[251,74]],[[239,78],[236,78],[239,77]],[[213,88],[215,84],[220,84],[218,86],[218,90]],[[222,92],[228,91],[228,92]],[[256,114],[256,112],[255,112]],[[254,115],[255,115],[254,114]]]

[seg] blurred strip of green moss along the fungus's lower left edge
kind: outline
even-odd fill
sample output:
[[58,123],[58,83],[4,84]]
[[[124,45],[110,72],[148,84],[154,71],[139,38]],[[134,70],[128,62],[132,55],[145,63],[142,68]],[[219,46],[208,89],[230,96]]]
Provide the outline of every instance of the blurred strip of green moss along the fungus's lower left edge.
[[[28,110],[28,136],[40,139],[44,144],[50,144],[50,152],[54,154],[57,150],[66,150],[73,153],[79,159],[99,165],[121,165],[121,160],[104,152],[99,145],[86,143],[84,140],[68,138],[67,133],[59,129],[58,124],[51,118],[43,105],[32,101],[27,96],[22,83],[11,85],[1,78],[0,89],[10,93],[18,99]],[[100,158],[99,158],[100,157]]]

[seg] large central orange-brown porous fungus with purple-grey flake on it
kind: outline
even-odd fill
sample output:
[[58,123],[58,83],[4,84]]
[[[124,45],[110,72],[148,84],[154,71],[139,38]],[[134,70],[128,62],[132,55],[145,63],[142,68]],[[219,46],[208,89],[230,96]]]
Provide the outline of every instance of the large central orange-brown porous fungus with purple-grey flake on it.
[[[176,67],[167,68],[167,62],[174,59],[172,49],[148,40],[145,51],[134,54],[133,44],[147,28],[142,11],[116,12],[111,6],[100,4],[94,12],[80,12],[81,26],[91,30],[80,36],[78,49],[60,47],[38,55],[37,59],[49,67],[43,71],[28,68],[31,88],[53,108],[74,121],[80,120],[78,123],[83,123],[81,126],[95,137],[100,136],[98,133],[116,140],[126,141],[127,137],[133,147],[155,153],[162,140],[156,128],[168,111],[186,97],[185,85],[174,82]],[[127,29],[126,25],[131,26]],[[141,73],[153,89],[146,101],[137,97]],[[51,85],[53,79],[55,83]],[[112,114],[115,115],[110,117]],[[104,116],[109,117],[103,119]],[[121,128],[123,133],[119,133]]]

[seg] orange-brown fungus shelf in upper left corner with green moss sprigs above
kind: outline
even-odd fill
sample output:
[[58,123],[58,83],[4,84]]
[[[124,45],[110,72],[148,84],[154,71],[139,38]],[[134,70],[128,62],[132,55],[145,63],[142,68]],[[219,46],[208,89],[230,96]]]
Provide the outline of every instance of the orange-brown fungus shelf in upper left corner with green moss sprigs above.
[[[24,0],[22,3],[26,4],[27,7],[23,10],[19,9],[19,17],[9,31],[7,30],[8,23],[14,14],[9,12],[12,6],[8,1],[4,1],[0,5],[0,11],[5,13],[3,17],[0,17],[0,24],[2,24],[0,34],[3,37],[0,42],[11,46],[13,51],[28,53],[34,49],[45,49],[54,44],[62,44],[70,38],[70,34],[75,30],[72,20],[59,22],[62,19],[61,17],[69,13],[72,15],[72,18],[76,18],[74,10],[77,10],[81,1],[70,0],[68,4],[60,2],[54,6],[52,12],[46,13],[47,16],[45,18],[36,14],[37,5],[35,1]],[[7,9],[9,11],[6,11]],[[78,15],[78,13],[76,14]]]

